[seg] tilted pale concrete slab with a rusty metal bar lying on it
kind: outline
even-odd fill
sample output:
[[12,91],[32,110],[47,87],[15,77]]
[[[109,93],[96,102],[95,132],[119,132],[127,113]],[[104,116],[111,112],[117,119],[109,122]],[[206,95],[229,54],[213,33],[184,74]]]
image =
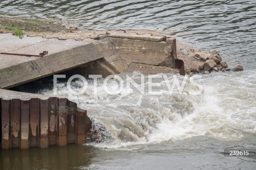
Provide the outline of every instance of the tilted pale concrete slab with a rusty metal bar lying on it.
[[[10,38],[12,38],[12,35],[10,35]],[[47,39],[47,41],[9,51],[21,54],[49,52],[42,57],[0,54],[2,59],[0,63],[0,88],[14,87],[103,58],[102,54],[92,44],[92,41],[92,39],[86,39],[85,41]]]

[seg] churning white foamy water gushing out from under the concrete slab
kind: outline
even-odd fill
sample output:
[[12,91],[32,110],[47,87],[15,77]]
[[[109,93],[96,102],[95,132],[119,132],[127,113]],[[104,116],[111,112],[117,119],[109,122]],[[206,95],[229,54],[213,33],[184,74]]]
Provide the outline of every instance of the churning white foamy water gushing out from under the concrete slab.
[[[255,70],[225,72],[195,76],[203,86],[200,95],[189,95],[197,87],[187,83],[180,94],[170,94],[163,79],[156,79],[162,95],[142,95],[135,87],[118,95],[109,95],[103,90],[103,79],[98,82],[98,95],[93,95],[93,84],[88,85],[83,95],[75,96],[66,87],[58,90],[59,97],[79,102],[87,110],[95,124],[106,127],[105,139],[91,143],[100,148],[129,149],[141,144],[183,140],[194,136],[210,136],[223,141],[242,140],[245,133],[256,133],[256,76]],[[138,72],[127,73],[135,82],[140,82]],[[162,74],[159,74],[162,76]],[[124,77],[125,74],[119,75]],[[169,82],[173,78],[169,74]],[[181,84],[183,76],[178,75]],[[81,86],[76,81],[74,86]],[[113,80],[109,84],[116,87]],[[145,81],[147,89],[148,82]],[[52,91],[45,91],[51,94]],[[97,125],[96,125],[97,124]]]

